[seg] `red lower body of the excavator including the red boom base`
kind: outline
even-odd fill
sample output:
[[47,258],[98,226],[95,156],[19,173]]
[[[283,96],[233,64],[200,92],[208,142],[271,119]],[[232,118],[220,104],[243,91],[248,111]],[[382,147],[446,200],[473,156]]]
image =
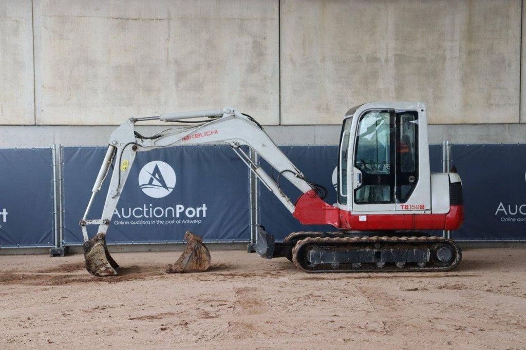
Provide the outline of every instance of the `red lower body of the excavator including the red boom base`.
[[342,230],[457,230],[464,221],[464,207],[451,205],[447,214],[360,215],[332,207],[310,190],[298,198],[293,215],[304,225],[332,225]]

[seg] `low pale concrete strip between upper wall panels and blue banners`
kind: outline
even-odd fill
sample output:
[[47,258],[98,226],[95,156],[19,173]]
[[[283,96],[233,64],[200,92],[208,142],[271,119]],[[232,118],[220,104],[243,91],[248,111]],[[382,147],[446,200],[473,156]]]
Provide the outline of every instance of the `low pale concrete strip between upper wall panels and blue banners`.
[[[154,135],[163,126],[139,127]],[[114,126],[3,126],[0,147],[105,146]],[[270,125],[265,131],[278,145],[339,145],[338,125]],[[526,124],[430,125],[429,143],[526,143]]]

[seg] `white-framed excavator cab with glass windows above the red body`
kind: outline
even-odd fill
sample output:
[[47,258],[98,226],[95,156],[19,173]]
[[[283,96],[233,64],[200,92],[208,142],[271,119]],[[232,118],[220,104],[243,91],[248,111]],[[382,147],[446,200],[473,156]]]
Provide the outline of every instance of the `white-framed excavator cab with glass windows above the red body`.
[[426,109],[422,104],[397,104],[367,104],[347,112],[338,162],[341,209],[430,212],[427,128],[419,128],[420,123],[427,125]]

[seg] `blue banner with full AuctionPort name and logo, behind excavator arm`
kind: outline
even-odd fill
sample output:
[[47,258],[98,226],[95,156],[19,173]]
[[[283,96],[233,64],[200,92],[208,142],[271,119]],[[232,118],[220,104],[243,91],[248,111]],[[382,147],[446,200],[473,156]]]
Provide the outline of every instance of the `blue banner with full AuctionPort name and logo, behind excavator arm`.
[[[65,147],[64,240],[82,243],[78,225],[106,148]],[[111,170],[110,170],[111,171]],[[88,219],[100,219],[109,177]],[[250,240],[249,173],[228,146],[138,152],[107,232],[112,243],[181,242],[186,230],[205,241]],[[89,236],[97,227],[88,227]]]

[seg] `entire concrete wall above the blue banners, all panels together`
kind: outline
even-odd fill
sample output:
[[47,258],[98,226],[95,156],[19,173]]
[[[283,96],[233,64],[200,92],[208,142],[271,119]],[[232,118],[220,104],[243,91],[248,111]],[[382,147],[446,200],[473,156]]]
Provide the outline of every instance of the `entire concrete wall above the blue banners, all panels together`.
[[370,100],[426,101],[431,142],[525,142],[524,8],[0,0],[0,146],[100,145],[114,127],[90,126],[225,105],[278,143],[332,145],[345,111]]

